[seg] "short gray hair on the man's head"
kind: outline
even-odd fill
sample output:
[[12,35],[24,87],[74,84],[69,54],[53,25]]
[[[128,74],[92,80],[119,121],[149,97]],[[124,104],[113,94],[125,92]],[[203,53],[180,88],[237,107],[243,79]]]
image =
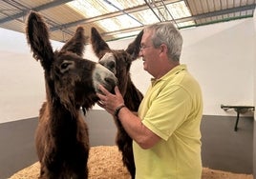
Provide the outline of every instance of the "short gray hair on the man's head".
[[144,29],[153,32],[151,40],[155,48],[165,44],[168,48],[167,55],[174,61],[180,61],[182,49],[182,36],[179,30],[170,22],[153,24]]

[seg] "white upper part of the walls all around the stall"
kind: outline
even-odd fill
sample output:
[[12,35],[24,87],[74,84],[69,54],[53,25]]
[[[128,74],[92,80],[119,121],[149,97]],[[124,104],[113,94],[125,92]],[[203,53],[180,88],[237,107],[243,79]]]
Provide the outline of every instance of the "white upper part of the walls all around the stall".
[[[202,86],[203,114],[236,115],[224,112],[221,104],[253,106],[253,19],[186,29],[181,33],[184,40],[181,63],[188,65]],[[0,123],[37,116],[45,99],[40,63],[32,59],[25,34],[0,29],[0,39]],[[132,40],[109,45],[126,49]],[[60,46],[53,42],[54,48]],[[90,45],[85,57],[97,60]],[[151,76],[143,70],[141,60],[133,64],[131,74],[136,86],[145,92]]]

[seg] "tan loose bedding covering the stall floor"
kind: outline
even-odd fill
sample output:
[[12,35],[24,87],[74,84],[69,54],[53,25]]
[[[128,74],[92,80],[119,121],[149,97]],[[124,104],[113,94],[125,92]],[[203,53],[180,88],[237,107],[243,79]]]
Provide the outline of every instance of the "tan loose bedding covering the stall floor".
[[[14,173],[10,179],[35,179],[39,176],[39,163]],[[90,179],[130,179],[127,169],[121,162],[117,147],[94,147],[90,150]],[[221,170],[203,168],[202,179],[253,179],[252,175],[237,174]]]

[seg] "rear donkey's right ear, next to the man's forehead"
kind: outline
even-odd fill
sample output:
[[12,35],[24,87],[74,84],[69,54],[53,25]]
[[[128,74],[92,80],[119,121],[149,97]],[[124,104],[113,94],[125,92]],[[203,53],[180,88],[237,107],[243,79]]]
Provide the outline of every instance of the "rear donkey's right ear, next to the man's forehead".
[[143,30],[139,32],[136,39],[128,46],[126,52],[131,54],[132,60],[136,60],[139,56],[140,41],[143,35]]

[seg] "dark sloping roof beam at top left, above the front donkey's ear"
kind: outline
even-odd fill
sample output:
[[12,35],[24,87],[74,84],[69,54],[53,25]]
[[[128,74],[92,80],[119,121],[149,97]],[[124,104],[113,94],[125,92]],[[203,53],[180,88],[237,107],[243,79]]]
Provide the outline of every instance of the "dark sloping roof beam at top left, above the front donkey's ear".
[[50,8],[68,3],[70,1],[73,1],[73,0],[57,0],[57,1],[53,1],[51,3],[44,4],[42,6],[33,8],[33,9],[23,10],[20,13],[16,13],[16,14],[13,14],[11,16],[8,16],[6,18],[1,19],[0,24],[6,23],[6,22],[11,21],[11,20],[15,20],[15,19],[20,18],[20,17],[23,17],[23,16],[27,15],[28,10],[34,10],[34,11],[47,10],[47,9],[50,9]]

